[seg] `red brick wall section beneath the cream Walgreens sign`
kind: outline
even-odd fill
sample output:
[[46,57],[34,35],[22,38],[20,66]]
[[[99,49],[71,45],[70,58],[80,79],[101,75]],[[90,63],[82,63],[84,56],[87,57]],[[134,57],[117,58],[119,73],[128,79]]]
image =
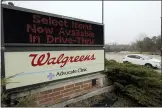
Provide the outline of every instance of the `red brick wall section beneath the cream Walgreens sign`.
[[100,87],[100,82],[97,79],[96,85],[92,86],[92,80],[65,85],[55,89],[49,89],[33,94],[35,96],[36,106],[50,106],[65,100],[77,97],[88,93]]

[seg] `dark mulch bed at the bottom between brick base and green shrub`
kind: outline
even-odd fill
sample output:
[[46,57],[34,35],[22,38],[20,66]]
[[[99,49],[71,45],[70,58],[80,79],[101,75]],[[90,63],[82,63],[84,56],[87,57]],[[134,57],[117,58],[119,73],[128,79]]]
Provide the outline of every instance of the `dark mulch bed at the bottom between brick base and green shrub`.
[[65,107],[139,107],[139,105],[128,97],[113,92],[96,95]]

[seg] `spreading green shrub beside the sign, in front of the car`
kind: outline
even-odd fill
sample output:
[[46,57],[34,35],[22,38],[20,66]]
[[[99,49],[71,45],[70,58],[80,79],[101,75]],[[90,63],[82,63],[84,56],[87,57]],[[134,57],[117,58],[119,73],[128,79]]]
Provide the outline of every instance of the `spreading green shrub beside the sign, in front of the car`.
[[120,87],[119,92],[136,100],[142,106],[162,106],[162,79],[160,73],[130,63],[106,60],[106,74]]

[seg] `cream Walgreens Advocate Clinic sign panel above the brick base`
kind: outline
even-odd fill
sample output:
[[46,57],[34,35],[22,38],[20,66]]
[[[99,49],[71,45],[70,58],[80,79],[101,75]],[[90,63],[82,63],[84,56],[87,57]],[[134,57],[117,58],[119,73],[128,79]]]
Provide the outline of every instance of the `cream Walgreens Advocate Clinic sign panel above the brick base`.
[[104,70],[104,50],[5,52],[6,89]]

